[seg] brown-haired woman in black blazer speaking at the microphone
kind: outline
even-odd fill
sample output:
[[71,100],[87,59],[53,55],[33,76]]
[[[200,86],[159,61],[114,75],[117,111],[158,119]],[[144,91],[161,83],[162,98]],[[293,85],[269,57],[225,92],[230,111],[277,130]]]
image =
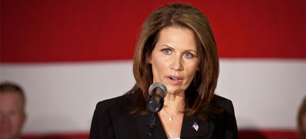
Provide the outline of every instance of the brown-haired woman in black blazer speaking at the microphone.
[[90,138],[147,138],[152,83],[167,86],[154,138],[237,138],[231,101],[213,95],[219,63],[206,16],[186,4],[168,4],[145,21],[134,53],[134,87],[97,104]]

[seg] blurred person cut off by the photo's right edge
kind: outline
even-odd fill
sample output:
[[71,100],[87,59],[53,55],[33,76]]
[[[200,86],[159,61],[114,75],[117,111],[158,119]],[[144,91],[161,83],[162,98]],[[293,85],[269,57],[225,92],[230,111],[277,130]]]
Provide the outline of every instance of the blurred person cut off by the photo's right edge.
[[306,97],[304,97],[297,114],[297,135],[306,138]]

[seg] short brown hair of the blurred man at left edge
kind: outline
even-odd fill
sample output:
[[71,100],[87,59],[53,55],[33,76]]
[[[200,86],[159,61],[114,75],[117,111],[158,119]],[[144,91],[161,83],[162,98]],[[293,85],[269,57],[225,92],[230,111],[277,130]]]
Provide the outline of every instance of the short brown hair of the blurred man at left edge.
[[21,96],[22,109],[24,110],[26,105],[26,96],[23,93],[23,89],[16,83],[9,83],[9,82],[0,83],[0,93],[6,93],[6,92],[18,93]]

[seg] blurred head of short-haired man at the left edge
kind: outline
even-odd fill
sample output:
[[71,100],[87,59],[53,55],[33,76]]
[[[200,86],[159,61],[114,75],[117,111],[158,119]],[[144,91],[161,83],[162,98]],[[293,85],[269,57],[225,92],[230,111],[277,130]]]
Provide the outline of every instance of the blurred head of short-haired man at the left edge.
[[0,83],[0,139],[21,137],[26,99],[20,86]]

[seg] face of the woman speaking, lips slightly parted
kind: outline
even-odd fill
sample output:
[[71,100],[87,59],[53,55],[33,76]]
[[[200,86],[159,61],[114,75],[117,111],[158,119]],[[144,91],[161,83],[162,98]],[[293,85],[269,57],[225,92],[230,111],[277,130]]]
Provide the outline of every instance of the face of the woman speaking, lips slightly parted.
[[184,93],[199,64],[194,33],[178,26],[162,29],[149,63],[154,83],[164,83],[170,94]]

